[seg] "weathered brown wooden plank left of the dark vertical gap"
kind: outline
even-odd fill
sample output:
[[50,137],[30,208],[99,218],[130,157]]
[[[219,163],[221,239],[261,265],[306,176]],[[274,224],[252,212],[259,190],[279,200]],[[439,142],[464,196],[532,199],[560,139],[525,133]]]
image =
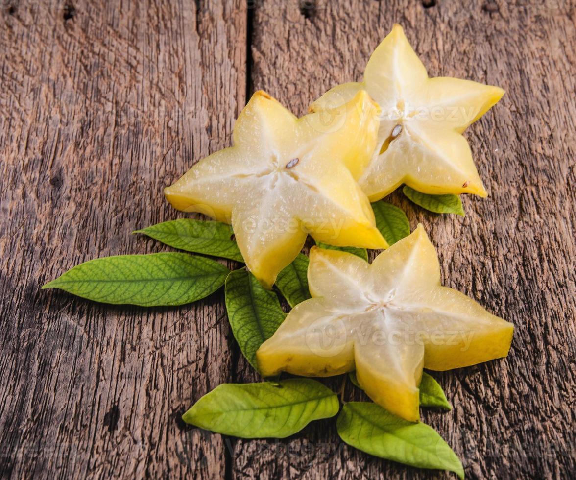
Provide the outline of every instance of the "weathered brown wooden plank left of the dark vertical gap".
[[232,376],[222,292],[143,309],[39,288],[94,256],[168,250],[130,232],[179,217],[162,187],[229,145],[245,3],[1,8],[2,477],[222,478],[222,438],[180,419]]

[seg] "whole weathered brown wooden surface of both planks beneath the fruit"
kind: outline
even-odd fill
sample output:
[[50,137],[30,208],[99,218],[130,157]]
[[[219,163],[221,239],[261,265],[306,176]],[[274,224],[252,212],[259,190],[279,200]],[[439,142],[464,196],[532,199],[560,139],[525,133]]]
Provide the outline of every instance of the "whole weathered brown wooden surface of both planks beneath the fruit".
[[[429,230],[445,284],[516,324],[506,360],[435,374],[454,410],[423,419],[469,478],[573,476],[574,3],[223,3],[2,3],[2,475],[445,477],[344,447],[333,421],[281,441],[183,425],[219,383],[257,378],[222,293],[141,309],[39,290],[94,256],[167,250],[129,233],[180,216],[162,186],[229,144],[247,93],[302,114],[358,80],[396,21],[431,75],[507,91],[467,133],[487,199],[465,199],[456,218],[391,196]],[[344,395],[362,398],[350,384]]]

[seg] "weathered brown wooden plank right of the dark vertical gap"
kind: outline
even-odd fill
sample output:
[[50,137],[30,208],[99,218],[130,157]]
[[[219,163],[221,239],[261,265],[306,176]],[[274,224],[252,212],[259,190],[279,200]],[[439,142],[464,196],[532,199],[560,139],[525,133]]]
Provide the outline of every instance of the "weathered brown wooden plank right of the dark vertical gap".
[[[257,2],[252,85],[297,114],[328,88],[361,80],[393,22],[431,76],[501,85],[507,95],[467,138],[490,196],[465,218],[425,213],[401,194],[412,228],[437,245],[444,282],[516,324],[509,358],[435,374],[453,412],[426,411],[468,478],[574,473],[573,5],[560,2],[327,0]],[[245,364],[238,379],[252,380]],[[331,383],[338,387],[338,381]],[[347,399],[361,399],[358,392]],[[238,441],[235,478],[438,478],[339,444],[334,422],[283,441]]]

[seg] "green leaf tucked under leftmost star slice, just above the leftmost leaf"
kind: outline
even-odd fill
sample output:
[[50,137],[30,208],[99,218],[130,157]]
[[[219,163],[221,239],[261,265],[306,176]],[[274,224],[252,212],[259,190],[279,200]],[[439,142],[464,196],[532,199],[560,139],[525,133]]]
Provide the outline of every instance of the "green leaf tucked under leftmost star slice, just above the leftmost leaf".
[[222,222],[181,218],[132,233],[143,233],[180,250],[244,262],[236,241],[232,240],[232,227]]

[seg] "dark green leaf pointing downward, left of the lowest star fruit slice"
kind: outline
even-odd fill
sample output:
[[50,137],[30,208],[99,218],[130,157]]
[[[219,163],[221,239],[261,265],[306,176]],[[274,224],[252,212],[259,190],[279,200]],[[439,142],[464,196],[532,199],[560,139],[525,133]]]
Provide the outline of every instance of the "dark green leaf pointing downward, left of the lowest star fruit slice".
[[256,364],[256,350],[286,318],[278,296],[266,290],[246,269],[234,270],[226,278],[226,311],[234,338],[248,362]]

